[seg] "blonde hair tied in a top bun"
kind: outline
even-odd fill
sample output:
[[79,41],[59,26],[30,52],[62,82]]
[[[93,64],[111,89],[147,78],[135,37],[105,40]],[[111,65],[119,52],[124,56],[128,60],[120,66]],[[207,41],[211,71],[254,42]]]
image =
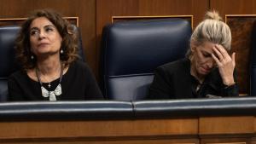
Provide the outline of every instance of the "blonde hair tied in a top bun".
[[[195,27],[195,31],[190,37],[190,47],[192,45],[199,46],[205,42],[221,44],[227,51],[231,49],[230,27],[222,21],[215,10],[208,11],[205,19]],[[190,55],[191,50],[189,49],[187,57]]]

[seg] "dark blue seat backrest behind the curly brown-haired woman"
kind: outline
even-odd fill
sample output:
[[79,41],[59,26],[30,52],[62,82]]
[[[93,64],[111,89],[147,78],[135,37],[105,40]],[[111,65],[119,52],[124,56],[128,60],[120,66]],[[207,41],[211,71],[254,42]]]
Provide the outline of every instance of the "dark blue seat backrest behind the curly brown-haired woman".
[[[79,57],[85,60],[79,28],[74,28],[78,31]],[[20,68],[15,62],[15,39],[19,31],[20,26],[0,26],[0,101],[7,100],[9,75]]]

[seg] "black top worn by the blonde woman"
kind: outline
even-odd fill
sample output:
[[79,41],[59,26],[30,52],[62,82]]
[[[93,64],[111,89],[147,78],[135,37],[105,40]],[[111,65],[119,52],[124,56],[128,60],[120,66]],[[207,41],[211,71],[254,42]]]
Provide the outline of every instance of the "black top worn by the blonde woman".
[[[236,81],[236,74],[234,74]],[[149,89],[149,99],[183,99],[218,96],[238,96],[238,86],[223,84],[218,68],[214,68],[200,84],[190,74],[190,60],[177,60],[159,66]]]

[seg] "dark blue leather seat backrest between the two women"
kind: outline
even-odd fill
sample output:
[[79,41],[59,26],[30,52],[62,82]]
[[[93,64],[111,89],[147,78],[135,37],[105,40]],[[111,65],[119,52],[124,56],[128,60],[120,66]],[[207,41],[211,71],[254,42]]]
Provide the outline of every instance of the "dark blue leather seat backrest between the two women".
[[116,22],[102,31],[101,88],[110,100],[143,100],[157,66],[183,58],[189,21],[157,19]]

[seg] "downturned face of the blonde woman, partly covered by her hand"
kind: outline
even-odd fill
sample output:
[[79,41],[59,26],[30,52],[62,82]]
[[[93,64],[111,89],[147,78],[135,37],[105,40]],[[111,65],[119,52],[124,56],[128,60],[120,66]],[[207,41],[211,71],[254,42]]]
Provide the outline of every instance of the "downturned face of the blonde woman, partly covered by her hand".
[[[191,66],[199,77],[205,77],[216,67],[216,62],[212,58],[215,43],[205,42],[199,46],[191,46],[192,58]],[[214,53],[213,53],[214,54]]]

